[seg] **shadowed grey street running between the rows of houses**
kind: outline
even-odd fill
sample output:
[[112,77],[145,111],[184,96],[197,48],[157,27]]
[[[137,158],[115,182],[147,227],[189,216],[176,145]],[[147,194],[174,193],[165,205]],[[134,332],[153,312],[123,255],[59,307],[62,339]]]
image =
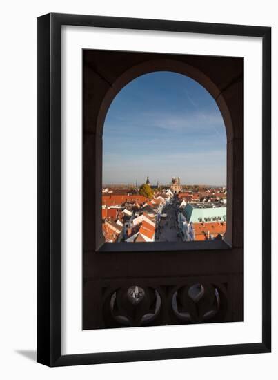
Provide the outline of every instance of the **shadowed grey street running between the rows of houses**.
[[167,218],[161,218],[159,222],[159,227],[155,239],[156,241],[182,241],[177,222],[177,210],[177,201],[175,199],[165,207],[163,213],[167,214]]

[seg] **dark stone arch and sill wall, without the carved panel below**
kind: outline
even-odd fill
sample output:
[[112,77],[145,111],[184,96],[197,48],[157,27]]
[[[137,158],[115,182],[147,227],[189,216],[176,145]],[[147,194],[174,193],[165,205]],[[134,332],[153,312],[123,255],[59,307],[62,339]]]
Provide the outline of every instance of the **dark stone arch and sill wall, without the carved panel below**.
[[[117,93],[139,75],[175,70],[197,80],[217,101],[227,131],[228,224],[225,241],[104,243],[101,231],[103,117]],[[112,50],[83,50],[83,329],[103,327],[103,292],[130,287],[212,283],[228,294],[224,321],[243,320],[243,59]],[[104,244],[103,244],[104,243]],[[155,252],[159,253],[155,254]],[[175,261],[175,265],[173,264]],[[110,292],[110,289],[106,289]],[[101,301],[102,300],[102,301]],[[98,309],[98,308],[97,308]],[[161,319],[157,323],[165,324]]]

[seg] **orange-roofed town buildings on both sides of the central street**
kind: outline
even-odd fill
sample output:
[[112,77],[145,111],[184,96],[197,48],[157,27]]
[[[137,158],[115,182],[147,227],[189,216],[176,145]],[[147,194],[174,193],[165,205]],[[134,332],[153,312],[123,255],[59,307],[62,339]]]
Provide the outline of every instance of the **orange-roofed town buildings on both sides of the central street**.
[[102,229],[106,242],[154,242],[164,207],[175,198],[183,241],[222,239],[226,231],[226,189],[156,193],[152,200],[130,189],[102,194]]

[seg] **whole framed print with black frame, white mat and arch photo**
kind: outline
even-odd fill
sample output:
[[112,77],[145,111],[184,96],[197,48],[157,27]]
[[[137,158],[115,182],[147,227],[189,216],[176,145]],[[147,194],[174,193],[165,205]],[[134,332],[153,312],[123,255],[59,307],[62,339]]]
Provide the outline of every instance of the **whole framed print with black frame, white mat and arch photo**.
[[271,29],[37,19],[37,361],[270,352]]

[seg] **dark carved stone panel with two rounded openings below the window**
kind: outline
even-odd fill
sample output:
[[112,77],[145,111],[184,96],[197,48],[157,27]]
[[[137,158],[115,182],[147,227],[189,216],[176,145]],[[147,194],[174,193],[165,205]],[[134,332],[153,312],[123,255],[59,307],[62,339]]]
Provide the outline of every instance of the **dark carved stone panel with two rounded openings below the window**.
[[119,285],[105,290],[102,312],[103,327],[224,322],[227,290],[224,283],[204,281],[176,286]]

